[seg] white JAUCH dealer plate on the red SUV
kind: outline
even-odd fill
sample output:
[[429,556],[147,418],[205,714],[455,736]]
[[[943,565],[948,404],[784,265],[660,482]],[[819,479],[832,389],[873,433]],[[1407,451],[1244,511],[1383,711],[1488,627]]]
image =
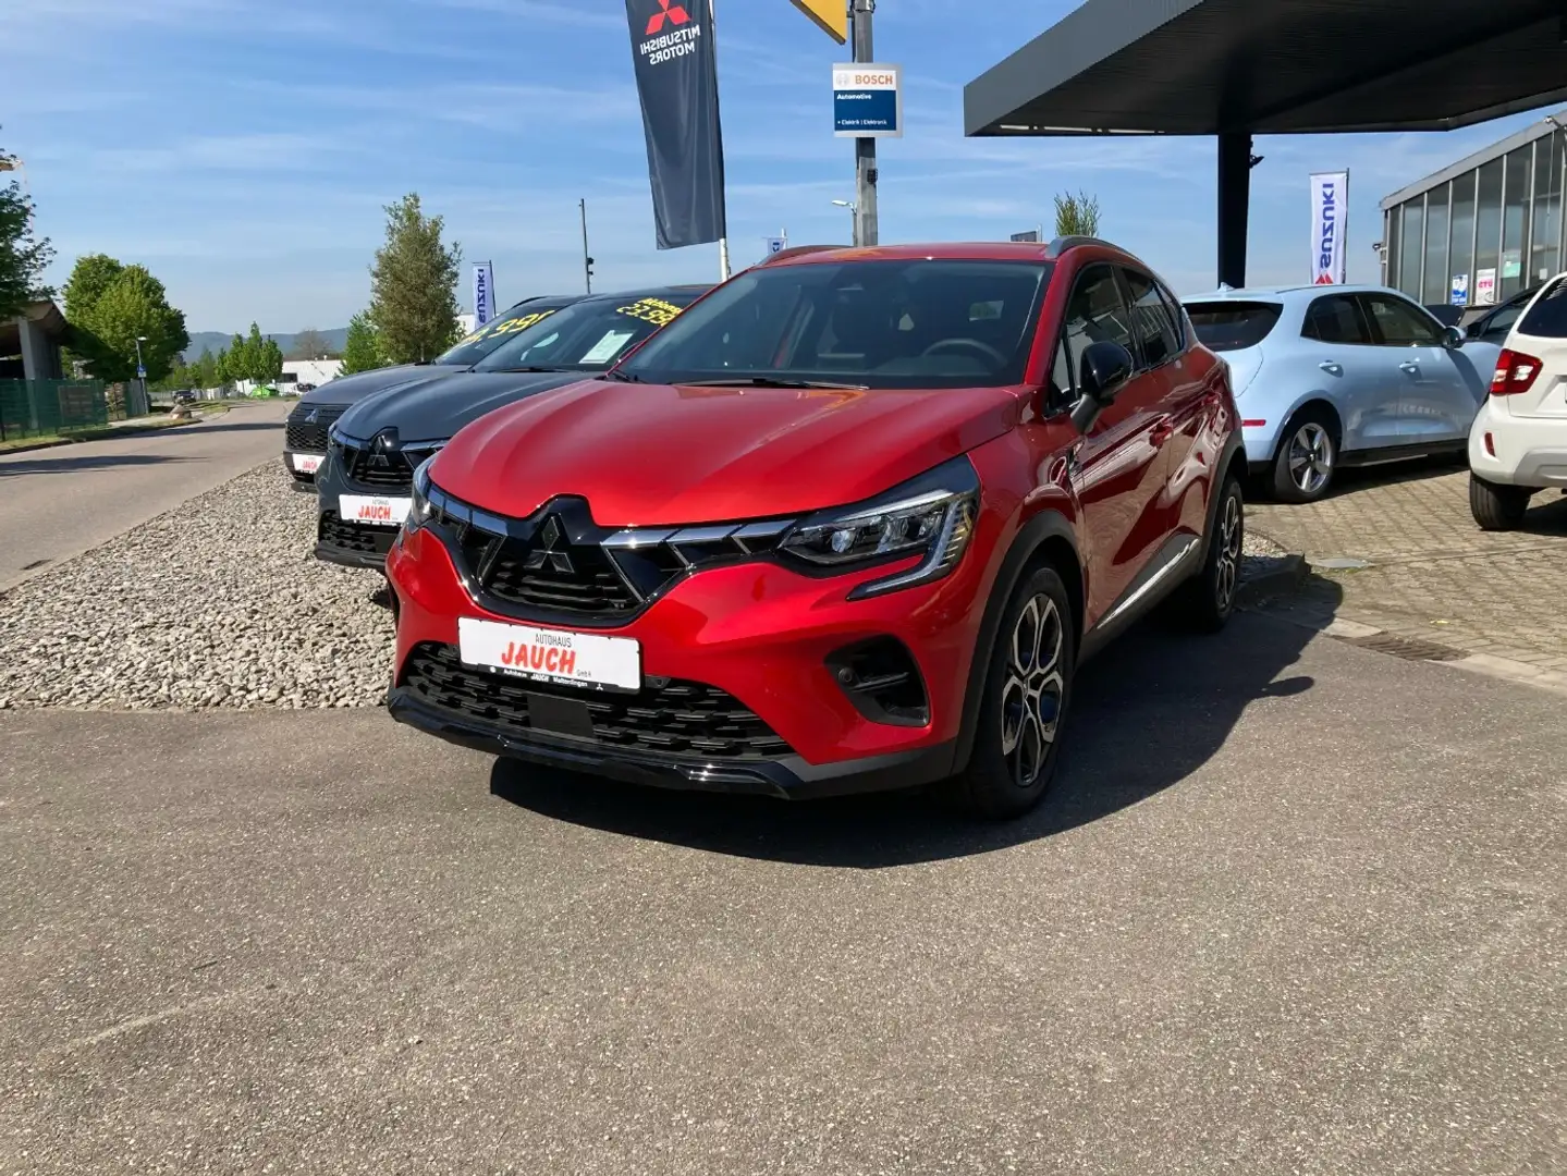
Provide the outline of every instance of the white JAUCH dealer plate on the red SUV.
[[458,619],[458,651],[469,666],[533,681],[638,691],[642,647],[630,637],[536,629],[478,617]]

